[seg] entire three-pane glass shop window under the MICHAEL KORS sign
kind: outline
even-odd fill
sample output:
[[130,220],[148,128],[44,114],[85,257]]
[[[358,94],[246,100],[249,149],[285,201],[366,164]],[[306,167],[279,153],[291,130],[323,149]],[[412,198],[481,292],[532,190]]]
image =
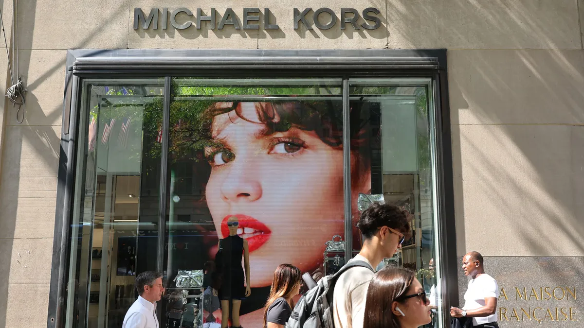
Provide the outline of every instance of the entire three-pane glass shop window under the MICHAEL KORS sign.
[[335,273],[381,198],[413,221],[378,268],[416,270],[439,308],[433,81],[343,83],[82,80],[67,327],[121,327],[145,270],[164,274],[161,327],[260,327],[276,267]]

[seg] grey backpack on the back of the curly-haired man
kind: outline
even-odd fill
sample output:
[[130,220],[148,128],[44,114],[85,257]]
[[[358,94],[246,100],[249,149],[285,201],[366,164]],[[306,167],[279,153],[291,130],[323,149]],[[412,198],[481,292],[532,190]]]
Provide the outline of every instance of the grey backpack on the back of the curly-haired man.
[[332,300],[335,284],[340,275],[353,267],[366,267],[374,271],[365,261],[349,261],[337,273],[322,277],[317,286],[306,292],[294,306],[286,328],[334,328]]

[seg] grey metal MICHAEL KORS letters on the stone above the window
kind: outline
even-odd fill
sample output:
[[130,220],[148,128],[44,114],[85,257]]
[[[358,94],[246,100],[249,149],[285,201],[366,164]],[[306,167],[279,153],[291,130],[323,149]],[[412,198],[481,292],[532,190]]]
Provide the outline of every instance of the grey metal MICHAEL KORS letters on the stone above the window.
[[[304,25],[308,30],[312,30],[313,25],[320,30],[328,30],[339,21],[341,30],[344,30],[348,25],[353,26],[355,30],[375,30],[381,26],[381,19],[378,17],[380,11],[377,8],[365,8],[361,12],[353,8],[341,8],[338,12],[329,8],[319,8],[314,11],[311,18],[308,18],[308,13],[311,11],[312,8],[294,8],[290,17],[294,23],[294,30],[297,30],[300,25]],[[180,23],[176,18],[179,14],[182,16]],[[168,8],[152,8],[147,15],[141,8],[134,8],[134,29],[142,27],[144,30],[150,28],[165,30],[169,27],[169,20],[171,26],[177,30],[185,30],[189,27],[200,30],[204,26],[211,30],[222,30],[229,25],[236,30],[258,30],[260,24],[265,30],[280,29],[275,20],[271,21],[273,15],[269,8],[263,8],[263,22],[260,22],[259,8],[244,8],[239,14],[241,14],[241,18],[231,8],[225,9],[224,12],[218,12],[215,8],[211,8],[208,12],[203,12],[201,8],[197,8],[195,11],[187,8],[177,8],[172,11],[169,11]],[[185,15],[187,19],[185,19]],[[322,23],[319,18],[328,23]]]

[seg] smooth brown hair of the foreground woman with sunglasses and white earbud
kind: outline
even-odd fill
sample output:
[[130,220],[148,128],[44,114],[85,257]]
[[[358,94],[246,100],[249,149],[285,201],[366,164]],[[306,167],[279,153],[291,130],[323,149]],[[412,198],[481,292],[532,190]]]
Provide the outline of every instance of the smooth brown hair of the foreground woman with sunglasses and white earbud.
[[367,288],[363,327],[399,328],[399,321],[391,310],[391,304],[404,295],[415,277],[413,271],[403,268],[381,269]]

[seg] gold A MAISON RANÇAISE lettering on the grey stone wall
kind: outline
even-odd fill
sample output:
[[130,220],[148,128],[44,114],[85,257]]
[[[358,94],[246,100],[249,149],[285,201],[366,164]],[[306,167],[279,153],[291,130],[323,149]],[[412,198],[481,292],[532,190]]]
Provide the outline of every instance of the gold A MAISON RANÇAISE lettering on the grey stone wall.
[[[578,309],[569,306],[577,301],[576,287],[501,287],[499,305],[505,301],[531,301],[529,306],[499,307],[499,321],[507,322],[544,322],[578,321]],[[535,302],[533,302],[535,301]],[[541,305],[540,303],[541,302]],[[537,305],[534,306],[534,303]]]

